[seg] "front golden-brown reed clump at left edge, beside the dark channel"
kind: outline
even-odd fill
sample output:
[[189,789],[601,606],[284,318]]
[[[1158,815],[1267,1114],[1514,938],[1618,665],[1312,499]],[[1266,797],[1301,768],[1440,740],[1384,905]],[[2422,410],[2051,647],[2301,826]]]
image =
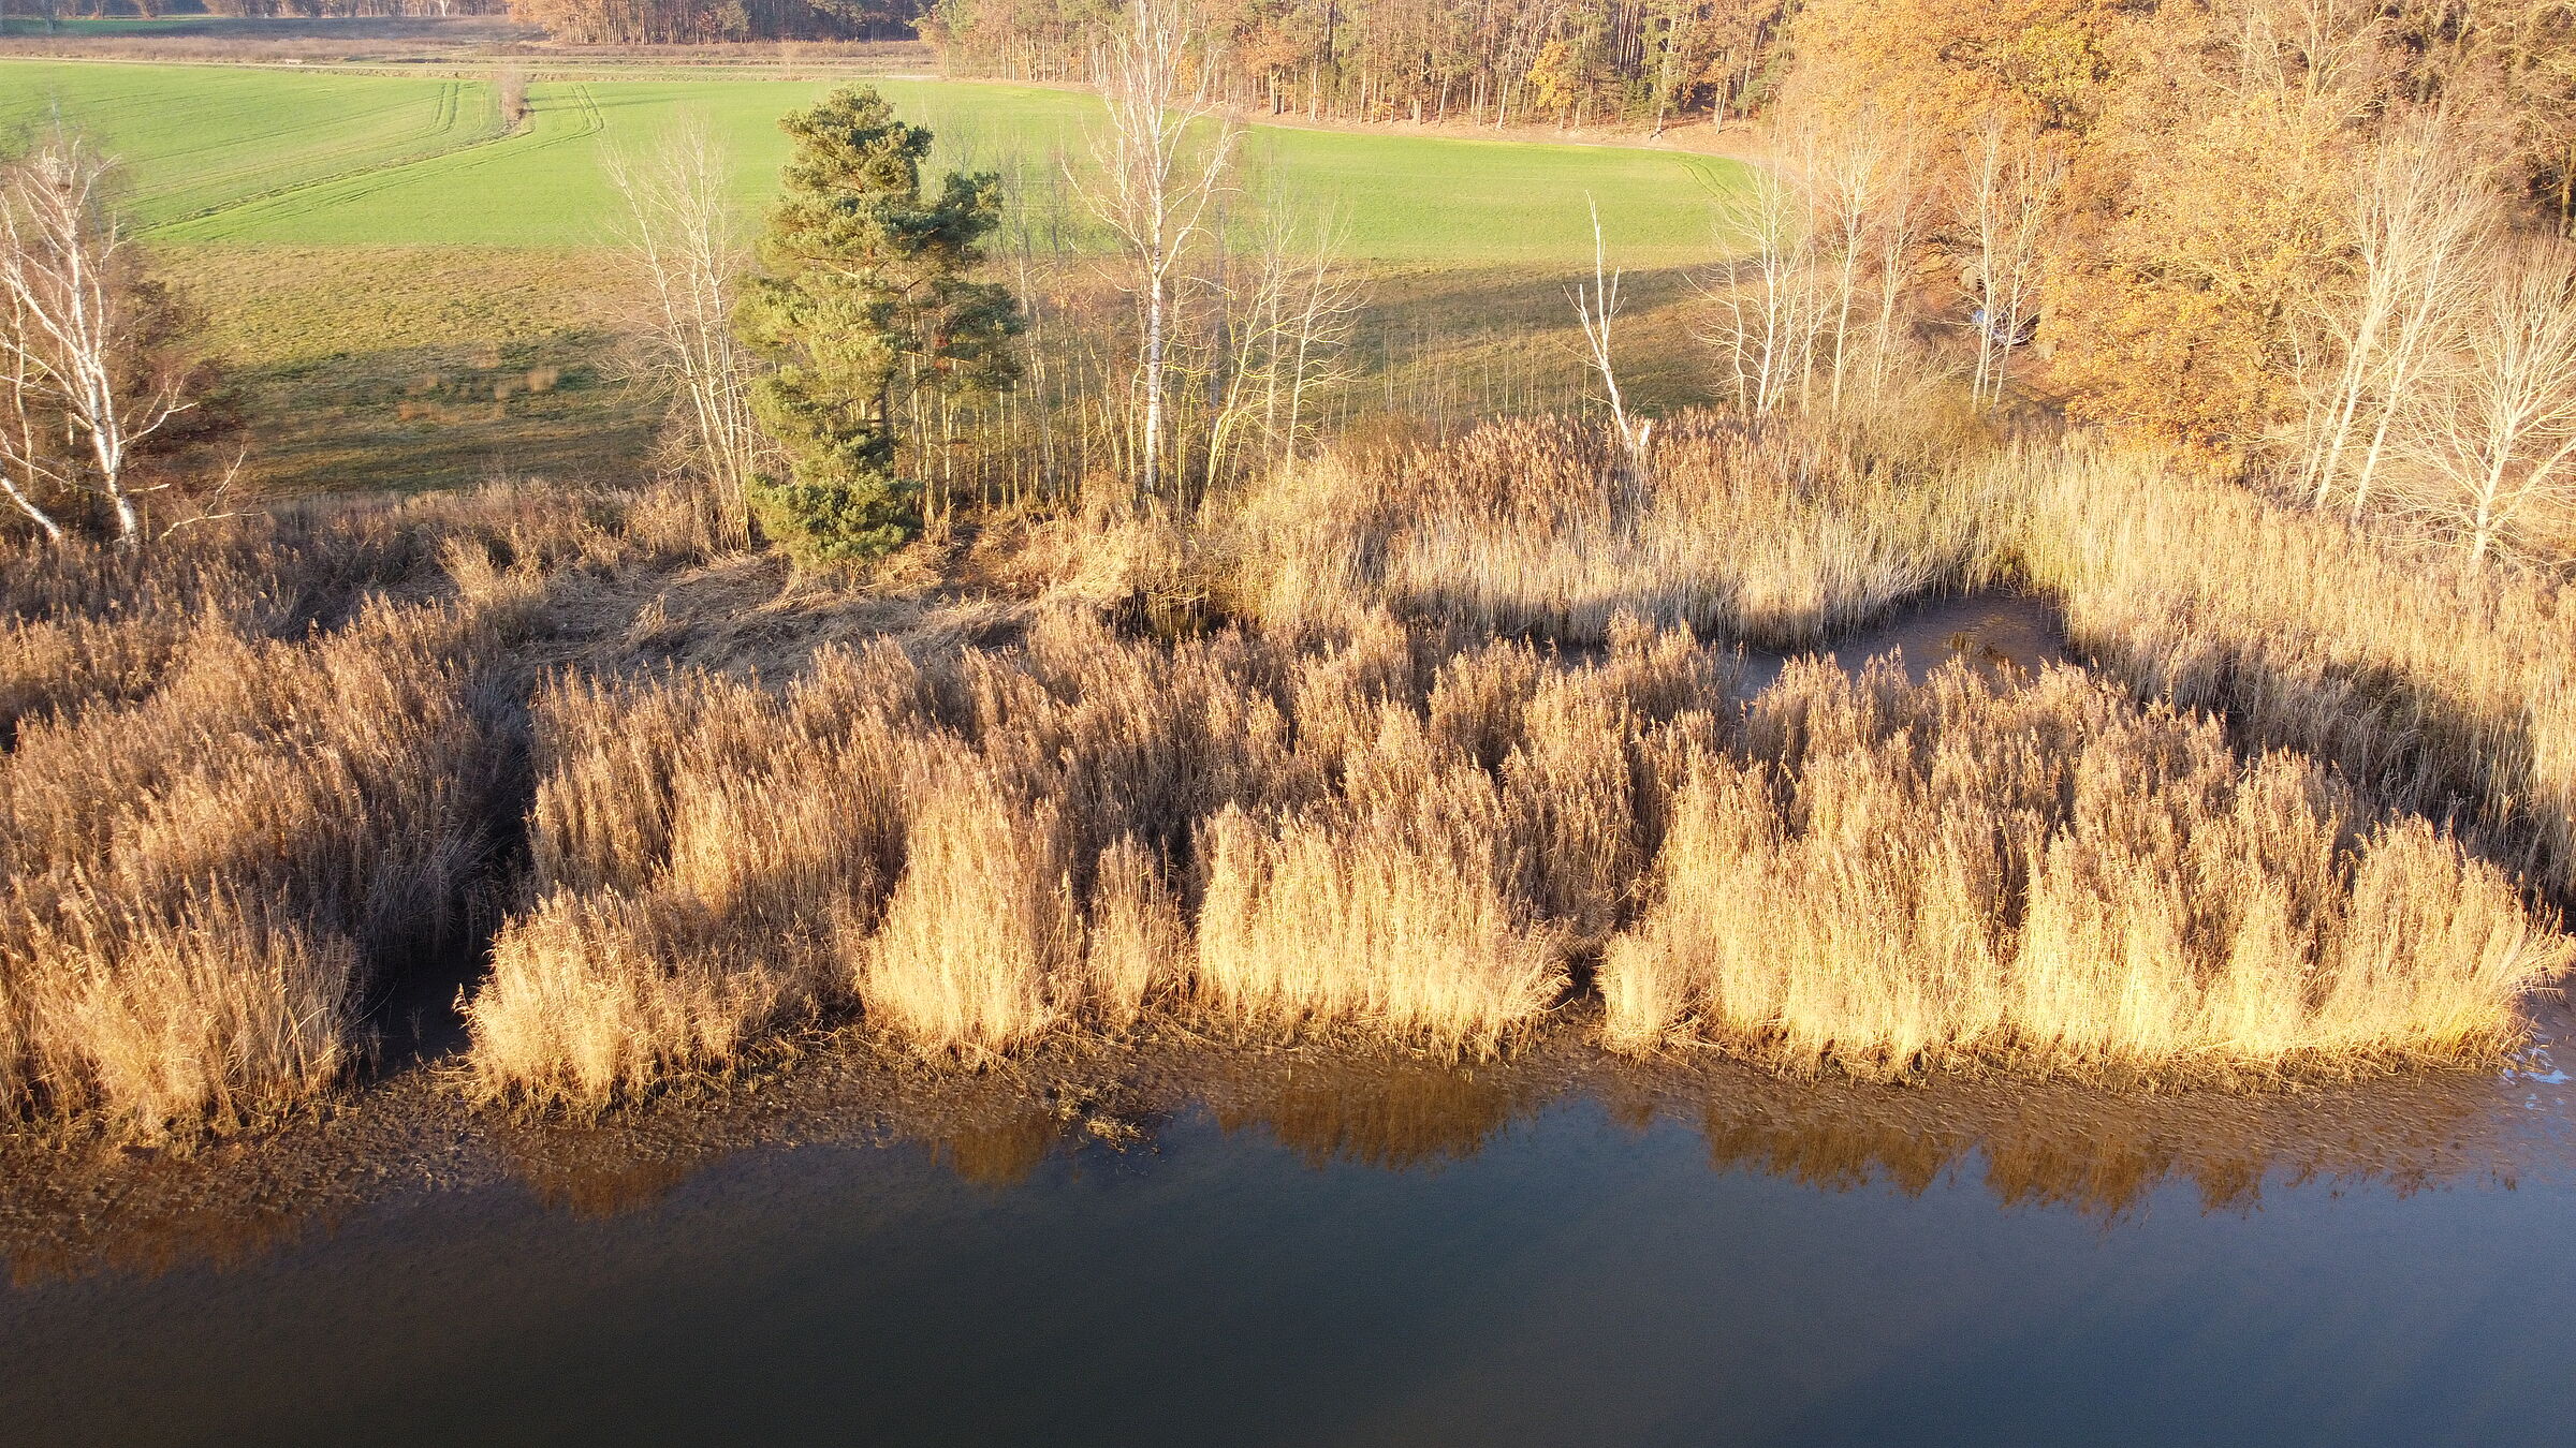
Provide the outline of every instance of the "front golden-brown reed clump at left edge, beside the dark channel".
[[193,636],[137,703],[0,763],[0,1103],[240,1126],[363,1051],[368,961],[461,938],[495,750],[446,605],[312,644]]

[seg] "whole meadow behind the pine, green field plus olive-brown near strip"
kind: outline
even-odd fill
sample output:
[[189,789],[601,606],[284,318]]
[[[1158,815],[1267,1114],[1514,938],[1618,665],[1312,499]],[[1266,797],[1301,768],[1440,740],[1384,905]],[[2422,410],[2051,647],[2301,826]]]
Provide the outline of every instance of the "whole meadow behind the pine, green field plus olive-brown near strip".
[[[1097,100],[871,82],[933,126],[935,165],[1002,170],[1082,229],[1077,201],[1041,193],[1087,165]],[[0,59],[0,134],[59,113],[121,157],[134,222],[209,304],[265,417],[250,472],[273,490],[618,479],[659,412],[618,381],[603,160],[703,124],[750,222],[786,160],[778,116],[832,85],[538,75],[505,134],[489,75]],[[1247,193],[1332,216],[1378,278],[1368,366],[1448,379],[1489,376],[1494,353],[1525,371],[1533,350],[1574,376],[1564,278],[1592,260],[1587,196],[1615,260],[1651,273],[1641,358],[1682,356],[1651,309],[1685,291],[1674,268],[1713,255],[1713,201],[1736,175],[1682,152],[1267,126],[1244,162]],[[1643,386],[1703,399],[1662,363]]]

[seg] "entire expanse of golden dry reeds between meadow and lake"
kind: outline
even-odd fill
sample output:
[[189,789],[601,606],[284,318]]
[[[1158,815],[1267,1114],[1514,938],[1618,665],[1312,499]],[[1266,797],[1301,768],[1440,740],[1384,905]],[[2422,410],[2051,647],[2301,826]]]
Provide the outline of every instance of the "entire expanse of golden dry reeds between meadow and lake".
[[[505,490],[8,559],[8,1110],[345,1080],[518,799],[471,1082],[577,1110],[837,1020],[1473,1059],[1592,992],[1801,1072],[2357,1069],[2568,961],[2555,587],[2143,461],[1512,423],[958,544],[799,582],[675,492]],[[1739,698],[1741,639],[1996,582],[2133,688]],[[863,624],[902,587],[976,624]]]

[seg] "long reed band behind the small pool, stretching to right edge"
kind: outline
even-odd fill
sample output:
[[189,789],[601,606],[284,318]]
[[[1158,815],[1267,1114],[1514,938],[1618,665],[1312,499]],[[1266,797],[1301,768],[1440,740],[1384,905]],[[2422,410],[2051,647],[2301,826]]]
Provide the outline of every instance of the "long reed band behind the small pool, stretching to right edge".
[[[1899,461],[1873,464],[1870,456]],[[2316,755],[2375,806],[2576,889],[2576,605],[2084,438],[2012,451],[1677,417],[1643,464],[1571,423],[1352,446],[1221,508],[1213,593],[1278,629],[1376,611],[1592,642],[1618,613],[1803,647],[1924,593],[2058,600],[2148,698]]]

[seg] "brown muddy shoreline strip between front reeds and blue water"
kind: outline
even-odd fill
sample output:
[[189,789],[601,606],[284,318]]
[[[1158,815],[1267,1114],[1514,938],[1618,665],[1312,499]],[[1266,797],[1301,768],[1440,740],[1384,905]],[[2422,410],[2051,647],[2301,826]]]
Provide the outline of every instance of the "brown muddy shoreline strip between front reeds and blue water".
[[2223,1208],[2277,1183],[2512,1183],[2563,1152],[2514,1110],[2527,1082],[2550,1080],[2517,1064],[2545,1067],[2571,1038],[2568,1007],[2545,1000],[2532,1046],[2501,1072],[2476,1062],[2254,1090],[2002,1072],[1886,1085],[1780,1074],[1716,1049],[1628,1059],[1592,1041],[1589,1007],[1564,1015],[1473,1064],[1350,1038],[1221,1038],[1164,1015],[1123,1041],[1056,1036],[958,1067],[845,1025],[600,1118],[477,1108],[443,1056],[268,1131],[183,1149],[5,1134],[0,1257],[21,1288],[191,1262],[227,1270],[355,1214],[533,1190],[549,1208],[616,1216],[726,1157],[809,1147],[917,1149],[1007,1188],[1054,1154],[1151,1154],[1190,1113],[1267,1131],[1311,1167],[1404,1172],[1473,1157],[1533,1113],[1595,1103],[1631,1129],[1698,1126],[1713,1170],[1911,1196],[1981,1167],[2002,1206],[2102,1221],[2177,1180]]

